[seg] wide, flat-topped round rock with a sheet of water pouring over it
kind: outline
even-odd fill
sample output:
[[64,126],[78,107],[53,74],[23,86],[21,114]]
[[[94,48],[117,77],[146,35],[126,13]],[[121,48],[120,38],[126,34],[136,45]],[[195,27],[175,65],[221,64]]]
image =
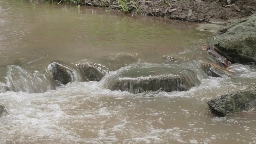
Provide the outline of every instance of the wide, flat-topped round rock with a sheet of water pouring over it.
[[112,72],[101,81],[110,90],[141,93],[147,91],[186,91],[200,84],[196,73],[189,69],[158,64],[133,64]]

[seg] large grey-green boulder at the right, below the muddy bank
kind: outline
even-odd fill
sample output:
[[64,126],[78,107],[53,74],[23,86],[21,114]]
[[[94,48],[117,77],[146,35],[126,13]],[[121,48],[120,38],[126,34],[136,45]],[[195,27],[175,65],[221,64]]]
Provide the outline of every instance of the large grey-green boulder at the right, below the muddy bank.
[[256,62],[256,14],[218,30],[209,47],[232,63]]

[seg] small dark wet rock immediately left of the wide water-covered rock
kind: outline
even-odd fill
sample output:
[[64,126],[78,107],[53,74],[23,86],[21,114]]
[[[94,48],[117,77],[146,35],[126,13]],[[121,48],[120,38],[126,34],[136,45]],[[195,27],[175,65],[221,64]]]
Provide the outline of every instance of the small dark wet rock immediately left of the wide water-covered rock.
[[108,73],[108,69],[100,64],[92,62],[80,62],[76,64],[83,81],[100,81],[102,77]]

